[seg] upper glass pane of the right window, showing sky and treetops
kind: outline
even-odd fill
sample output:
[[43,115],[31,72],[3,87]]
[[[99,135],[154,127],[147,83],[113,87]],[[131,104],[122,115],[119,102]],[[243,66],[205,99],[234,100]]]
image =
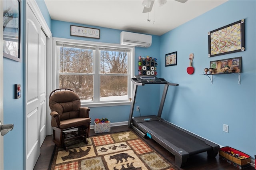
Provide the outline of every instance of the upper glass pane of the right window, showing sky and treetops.
[[127,74],[127,52],[100,51],[100,73]]

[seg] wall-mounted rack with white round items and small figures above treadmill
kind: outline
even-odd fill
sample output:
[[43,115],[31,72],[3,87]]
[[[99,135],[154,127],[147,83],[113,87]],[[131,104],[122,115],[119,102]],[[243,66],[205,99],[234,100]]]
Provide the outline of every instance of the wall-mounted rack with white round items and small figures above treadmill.
[[139,57],[138,59],[138,71],[139,75],[157,75],[156,71],[157,59],[147,56]]

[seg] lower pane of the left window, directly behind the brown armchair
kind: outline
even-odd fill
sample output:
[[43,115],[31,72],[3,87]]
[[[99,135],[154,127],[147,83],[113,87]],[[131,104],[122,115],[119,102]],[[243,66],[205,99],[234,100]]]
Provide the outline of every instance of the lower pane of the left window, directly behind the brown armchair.
[[60,75],[59,88],[72,89],[81,100],[93,101],[93,75]]

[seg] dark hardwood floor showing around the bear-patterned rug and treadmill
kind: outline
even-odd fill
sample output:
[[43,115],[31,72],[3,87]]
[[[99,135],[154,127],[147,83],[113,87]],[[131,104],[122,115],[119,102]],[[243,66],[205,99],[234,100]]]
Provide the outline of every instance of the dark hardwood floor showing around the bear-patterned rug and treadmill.
[[[111,127],[111,132],[100,133],[100,134],[95,134],[94,130],[91,129],[90,136],[121,132],[126,130],[132,130],[132,129],[128,128],[128,126]],[[160,146],[158,143],[156,143],[152,139],[146,139],[146,138],[142,138],[142,139],[145,140],[152,148],[160,152],[162,156],[166,158],[166,160],[169,160],[171,164],[175,165],[175,159],[173,154],[168,152],[165,148]],[[42,147],[41,147],[41,154],[38,158],[36,166],[34,167],[34,170],[48,169],[48,166],[52,158],[53,150],[54,150],[54,143],[52,142],[52,136],[46,136],[46,139],[44,140],[44,143],[42,144]],[[221,160],[219,158],[219,155],[217,155],[215,158],[208,158],[207,152],[204,152],[188,158],[186,166],[180,168],[180,170],[239,170],[239,168],[236,168],[235,166],[228,164],[224,160]],[[245,170],[254,170],[254,167],[250,166]]]

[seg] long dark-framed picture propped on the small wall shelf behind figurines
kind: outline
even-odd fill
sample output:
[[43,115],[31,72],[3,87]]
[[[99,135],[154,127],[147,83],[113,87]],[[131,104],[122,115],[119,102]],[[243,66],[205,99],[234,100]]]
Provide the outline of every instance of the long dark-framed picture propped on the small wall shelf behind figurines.
[[242,57],[210,61],[210,74],[241,73]]

